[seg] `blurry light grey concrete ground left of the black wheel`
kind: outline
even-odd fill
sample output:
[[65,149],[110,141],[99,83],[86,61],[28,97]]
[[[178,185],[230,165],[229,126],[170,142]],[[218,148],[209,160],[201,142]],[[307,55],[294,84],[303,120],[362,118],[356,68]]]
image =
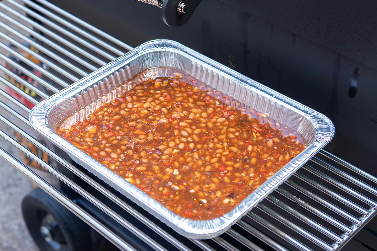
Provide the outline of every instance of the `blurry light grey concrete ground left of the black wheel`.
[[[0,129],[10,132],[0,123]],[[16,149],[0,138],[0,146],[14,156]],[[28,178],[0,158],[0,251],[38,251],[21,214],[23,196],[32,190]]]

